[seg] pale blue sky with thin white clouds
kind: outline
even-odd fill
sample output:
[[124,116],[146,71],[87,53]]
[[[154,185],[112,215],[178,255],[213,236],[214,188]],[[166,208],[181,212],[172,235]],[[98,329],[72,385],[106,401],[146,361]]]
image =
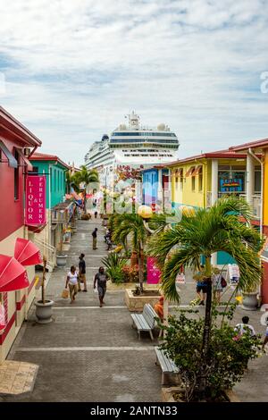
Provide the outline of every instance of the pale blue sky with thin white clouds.
[[268,137],[266,0],[0,7],[0,104],[43,152],[82,164],[132,109],[168,124],[183,157]]

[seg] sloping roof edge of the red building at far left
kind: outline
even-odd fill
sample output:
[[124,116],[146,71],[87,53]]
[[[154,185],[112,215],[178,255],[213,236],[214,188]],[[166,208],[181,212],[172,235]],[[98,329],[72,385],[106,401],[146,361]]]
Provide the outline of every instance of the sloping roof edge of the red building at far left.
[[42,144],[40,139],[16,120],[11,113],[5,111],[2,106],[0,106],[0,127],[12,132],[13,137],[24,145],[38,147]]

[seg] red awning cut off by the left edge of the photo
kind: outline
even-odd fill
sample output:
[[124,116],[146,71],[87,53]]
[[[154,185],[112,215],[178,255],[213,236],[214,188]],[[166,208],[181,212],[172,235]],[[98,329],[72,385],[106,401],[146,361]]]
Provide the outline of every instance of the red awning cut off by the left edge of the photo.
[[0,255],[0,292],[29,286],[26,269],[13,256]]

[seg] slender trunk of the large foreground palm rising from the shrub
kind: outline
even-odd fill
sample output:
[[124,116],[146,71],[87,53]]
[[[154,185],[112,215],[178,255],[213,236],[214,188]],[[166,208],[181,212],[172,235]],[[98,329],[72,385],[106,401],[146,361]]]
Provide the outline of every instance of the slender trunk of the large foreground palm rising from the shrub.
[[[205,398],[205,388],[206,388],[206,376],[207,376],[207,367],[209,365],[209,341],[210,341],[210,331],[211,331],[211,309],[212,309],[212,279],[211,279],[211,258],[208,257],[205,259],[205,274],[207,275],[207,292],[205,299],[205,324],[203,331],[203,342],[201,349],[201,369],[200,369],[200,382],[199,382],[199,394],[201,399]],[[208,276],[209,275],[209,276]]]

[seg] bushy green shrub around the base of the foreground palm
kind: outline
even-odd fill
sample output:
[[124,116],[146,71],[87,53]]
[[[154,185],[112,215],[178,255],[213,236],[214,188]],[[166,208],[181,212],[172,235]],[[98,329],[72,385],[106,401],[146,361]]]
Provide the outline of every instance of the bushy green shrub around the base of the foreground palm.
[[[235,305],[227,311],[231,320]],[[186,391],[187,400],[198,400],[198,386],[201,381],[202,341],[204,319],[197,316],[198,311],[181,311],[180,316],[169,318],[169,327],[163,339],[162,349],[180,368],[181,379]],[[230,323],[223,322],[219,327],[219,316],[223,312],[213,310],[210,347],[205,365],[206,388],[205,398],[216,399],[222,391],[231,389],[239,382],[247,368],[249,359],[258,357],[261,349],[260,337],[251,337],[249,332],[236,340],[237,333]],[[226,312],[224,312],[226,315]]]

